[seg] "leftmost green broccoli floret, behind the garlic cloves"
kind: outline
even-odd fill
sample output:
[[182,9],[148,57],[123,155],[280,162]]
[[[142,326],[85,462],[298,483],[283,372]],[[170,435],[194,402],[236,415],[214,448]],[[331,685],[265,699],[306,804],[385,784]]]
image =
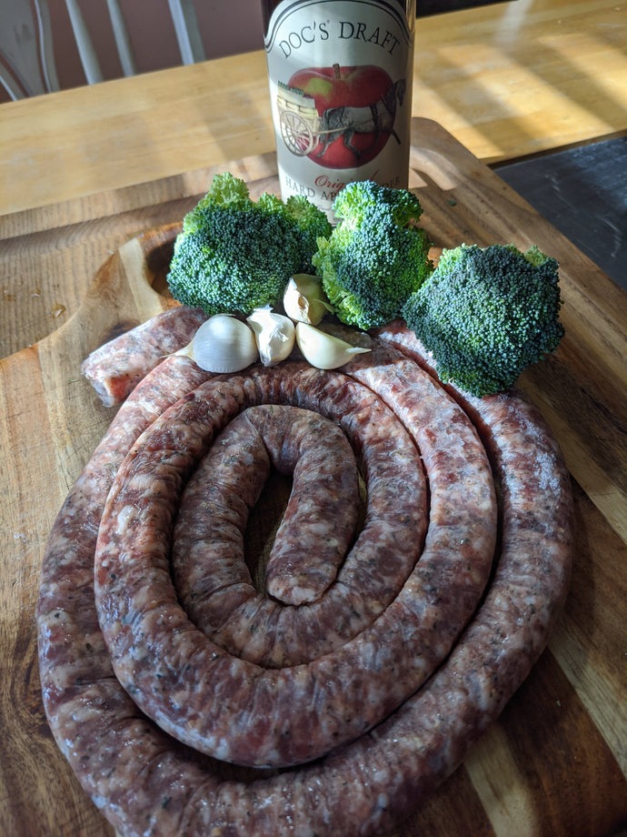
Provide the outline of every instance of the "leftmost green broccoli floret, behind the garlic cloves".
[[304,197],[250,197],[243,180],[216,175],[183,221],[167,283],[174,299],[208,315],[250,314],[283,296],[290,277],[313,271],[318,237],[331,234]]

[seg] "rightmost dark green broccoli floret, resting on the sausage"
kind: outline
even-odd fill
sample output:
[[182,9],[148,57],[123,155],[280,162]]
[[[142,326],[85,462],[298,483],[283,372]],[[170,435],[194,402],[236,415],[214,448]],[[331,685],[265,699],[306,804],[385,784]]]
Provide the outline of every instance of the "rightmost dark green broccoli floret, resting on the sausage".
[[481,397],[512,387],[557,348],[561,304],[558,264],[537,247],[462,245],[443,250],[402,313],[440,378]]

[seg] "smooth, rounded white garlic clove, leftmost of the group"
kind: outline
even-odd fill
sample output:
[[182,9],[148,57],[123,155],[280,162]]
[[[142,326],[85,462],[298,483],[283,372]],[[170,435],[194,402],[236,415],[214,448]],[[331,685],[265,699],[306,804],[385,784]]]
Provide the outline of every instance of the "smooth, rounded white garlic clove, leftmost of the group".
[[187,355],[207,372],[239,372],[254,363],[258,352],[251,328],[230,314],[215,314],[176,354]]

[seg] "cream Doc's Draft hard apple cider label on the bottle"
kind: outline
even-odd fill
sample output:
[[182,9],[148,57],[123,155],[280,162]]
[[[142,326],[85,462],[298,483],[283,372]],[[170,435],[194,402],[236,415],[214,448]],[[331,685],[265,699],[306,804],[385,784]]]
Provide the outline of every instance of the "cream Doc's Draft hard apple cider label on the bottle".
[[352,180],[407,187],[413,20],[398,0],[284,0],[265,51],[284,199],[331,217]]

